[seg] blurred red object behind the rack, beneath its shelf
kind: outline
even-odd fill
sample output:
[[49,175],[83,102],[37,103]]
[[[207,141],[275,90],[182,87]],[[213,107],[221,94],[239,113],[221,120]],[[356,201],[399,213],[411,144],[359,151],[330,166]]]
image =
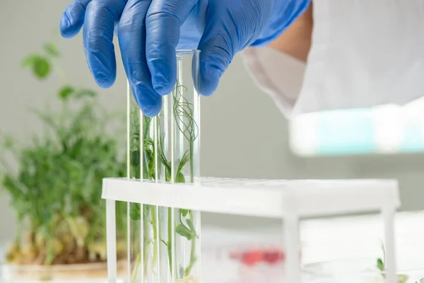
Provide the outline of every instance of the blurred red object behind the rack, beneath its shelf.
[[233,260],[239,260],[244,265],[256,265],[260,262],[265,262],[269,265],[276,265],[285,260],[285,254],[283,250],[275,249],[263,249],[263,250],[245,250],[243,252],[230,253],[230,258]]

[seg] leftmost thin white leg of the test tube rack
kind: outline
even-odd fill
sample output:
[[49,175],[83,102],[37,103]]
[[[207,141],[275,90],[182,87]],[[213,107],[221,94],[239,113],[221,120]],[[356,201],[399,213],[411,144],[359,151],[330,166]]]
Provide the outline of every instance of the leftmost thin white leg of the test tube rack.
[[115,201],[106,200],[107,282],[117,283],[117,221]]

